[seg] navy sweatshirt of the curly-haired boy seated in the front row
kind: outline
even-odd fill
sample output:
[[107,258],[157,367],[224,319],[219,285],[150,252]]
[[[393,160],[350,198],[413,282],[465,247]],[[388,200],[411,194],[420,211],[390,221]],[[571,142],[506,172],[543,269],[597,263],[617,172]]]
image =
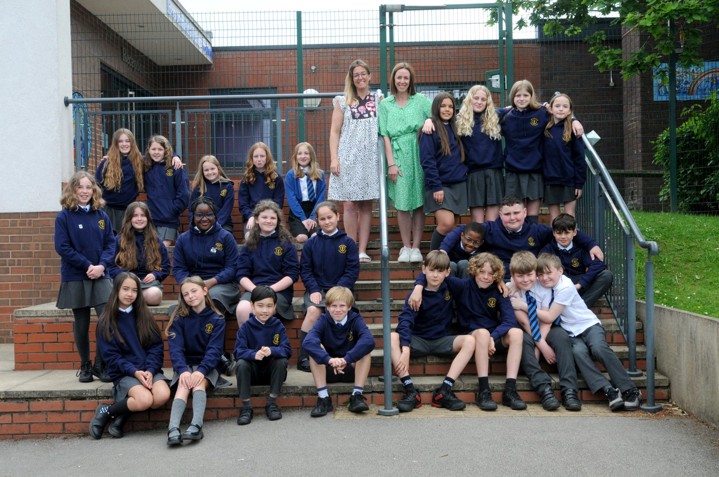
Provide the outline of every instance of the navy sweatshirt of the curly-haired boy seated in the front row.
[[[517,319],[509,298],[502,296],[497,284],[480,288],[473,277],[459,279],[446,277],[444,283],[457,303],[457,319],[459,334],[485,328],[493,339],[505,335],[510,328],[517,328]],[[414,282],[416,285],[427,286],[426,278],[421,273]]]

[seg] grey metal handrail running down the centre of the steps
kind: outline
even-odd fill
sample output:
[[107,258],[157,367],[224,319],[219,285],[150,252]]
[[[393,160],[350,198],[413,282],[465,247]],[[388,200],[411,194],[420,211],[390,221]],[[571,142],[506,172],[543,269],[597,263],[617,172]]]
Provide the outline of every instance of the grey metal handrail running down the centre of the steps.
[[377,149],[380,155],[380,276],[382,277],[382,338],[385,365],[385,407],[378,409],[381,416],[399,414],[392,407],[392,350],[390,332],[390,244],[387,230],[387,176],[385,172],[385,144],[382,136],[377,137]]

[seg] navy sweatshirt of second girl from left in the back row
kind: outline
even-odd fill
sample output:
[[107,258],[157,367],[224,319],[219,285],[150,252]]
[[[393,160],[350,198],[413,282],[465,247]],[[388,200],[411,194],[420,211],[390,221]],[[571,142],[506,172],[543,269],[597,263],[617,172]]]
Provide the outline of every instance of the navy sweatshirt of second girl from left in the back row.
[[150,170],[145,172],[145,192],[152,223],[179,228],[180,216],[185,213],[190,199],[187,172],[184,169],[168,170],[165,161],[152,162]]

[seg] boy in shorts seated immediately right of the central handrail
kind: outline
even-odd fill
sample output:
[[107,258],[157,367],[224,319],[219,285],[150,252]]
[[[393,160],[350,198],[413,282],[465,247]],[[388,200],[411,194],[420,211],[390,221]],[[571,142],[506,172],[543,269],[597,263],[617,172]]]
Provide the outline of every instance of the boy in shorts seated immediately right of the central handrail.
[[431,354],[454,357],[441,386],[432,394],[432,405],[459,411],[467,404],[454,395],[452,387],[475,353],[477,341],[471,335],[449,333],[449,325],[454,318],[452,293],[444,282],[449,274],[449,257],[439,250],[429,252],[424,259],[422,273],[427,279],[427,286],[422,290],[422,304],[419,310],[413,310],[408,304],[411,293],[408,294],[399,315],[397,330],[391,335],[392,365],[405,388],[397,409],[410,412],[422,405],[419,392],[409,375],[409,358]]

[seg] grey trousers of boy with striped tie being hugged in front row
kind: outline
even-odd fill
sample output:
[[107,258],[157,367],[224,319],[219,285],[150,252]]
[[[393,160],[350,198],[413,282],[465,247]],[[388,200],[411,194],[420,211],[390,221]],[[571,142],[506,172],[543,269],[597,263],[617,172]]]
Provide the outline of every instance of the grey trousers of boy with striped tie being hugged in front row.
[[[579,391],[580,385],[577,381],[577,369],[574,368],[574,356],[572,356],[572,343],[569,342],[569,335],[558,325],[553,325],[546,335],[546,342],[554,350],[557,356],[557,369],[559,370],[559,387],[562,391],[574,389]],[[551,387],[551,378],[544,369],[539,366],[539,361],[534,356],[534,340],[526,331],[522,341],[522,360],[520,362],[522,372],[529,379],[529,384],[540,392],[546,386]]]

